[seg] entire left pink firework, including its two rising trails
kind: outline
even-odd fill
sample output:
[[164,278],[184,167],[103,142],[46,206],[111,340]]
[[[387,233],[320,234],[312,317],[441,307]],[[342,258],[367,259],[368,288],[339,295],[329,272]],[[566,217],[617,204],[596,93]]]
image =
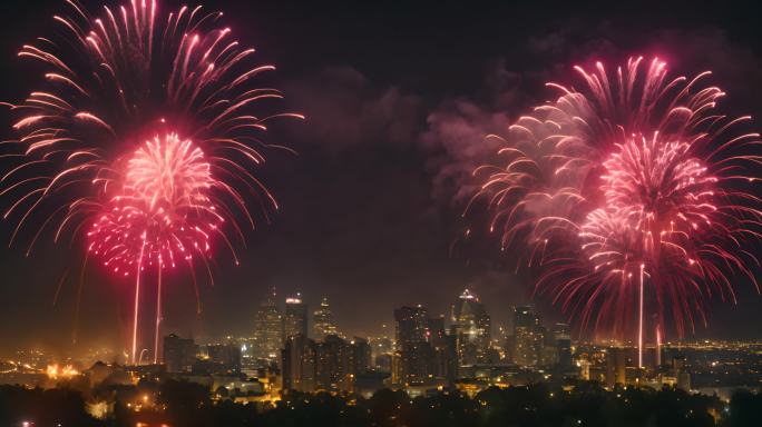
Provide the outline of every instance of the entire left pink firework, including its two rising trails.
[[42,88],[9,105],[18,138],[3,142],[3,157],[17,163],[0,178],[11,200],[3,216],[17,224],[11,244],[35,230],[27,254],[48,230],[55,241],[85,236],[90,256],[135,272],[136,337],[140,271],[160,278],[194,259],[208,270],[213,238],[232,251],[225,232],[244,244],[238,222],[254,227],[252,201],[265,215],[277,208],[251,172],[274,147],[262,133],[273,118],[302,117],[266,113],[283,96],[255,78],[274,67],[254,63],[254,49],[217,26],[222,12],[162,13],[154,0],[133,0],[91,14],[67,3],[53,17],[61,36],[19,52],[48,71]]

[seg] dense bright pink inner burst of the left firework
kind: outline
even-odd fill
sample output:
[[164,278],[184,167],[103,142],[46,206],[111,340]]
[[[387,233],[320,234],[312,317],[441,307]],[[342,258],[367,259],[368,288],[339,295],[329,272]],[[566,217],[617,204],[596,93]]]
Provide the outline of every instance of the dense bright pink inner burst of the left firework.
[[114,272],[136,266],[175,267],[209,255],[223,217],[212,199],[216,182],[204,153],[176,135],[156,137],[127,161],[120,191],[88,232],[89,250]]

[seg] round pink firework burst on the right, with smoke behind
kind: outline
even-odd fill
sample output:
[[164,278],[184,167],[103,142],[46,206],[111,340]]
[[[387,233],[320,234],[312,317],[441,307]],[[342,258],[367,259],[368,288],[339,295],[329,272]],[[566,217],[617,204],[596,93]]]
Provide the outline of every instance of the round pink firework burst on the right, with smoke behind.
[[582,90],[548,83],[556,101],[490,136],[501,160],[475,171],[472,203],[487,200],[504,249],[531,248],[519,262],[540,266],[537,290],[583,329],[622,336],[637,315],[642,340],[645,292],[658,325],[682,336],[706,322],[710,298],[735,300],[733,274],[756,286],[744,242],[760,237],[748,190],[760,136],[735,131],[750,117],[715,111],[725,93],[702,83],[710,72],[670,79],[665,62],[642,58],[575,69]]

